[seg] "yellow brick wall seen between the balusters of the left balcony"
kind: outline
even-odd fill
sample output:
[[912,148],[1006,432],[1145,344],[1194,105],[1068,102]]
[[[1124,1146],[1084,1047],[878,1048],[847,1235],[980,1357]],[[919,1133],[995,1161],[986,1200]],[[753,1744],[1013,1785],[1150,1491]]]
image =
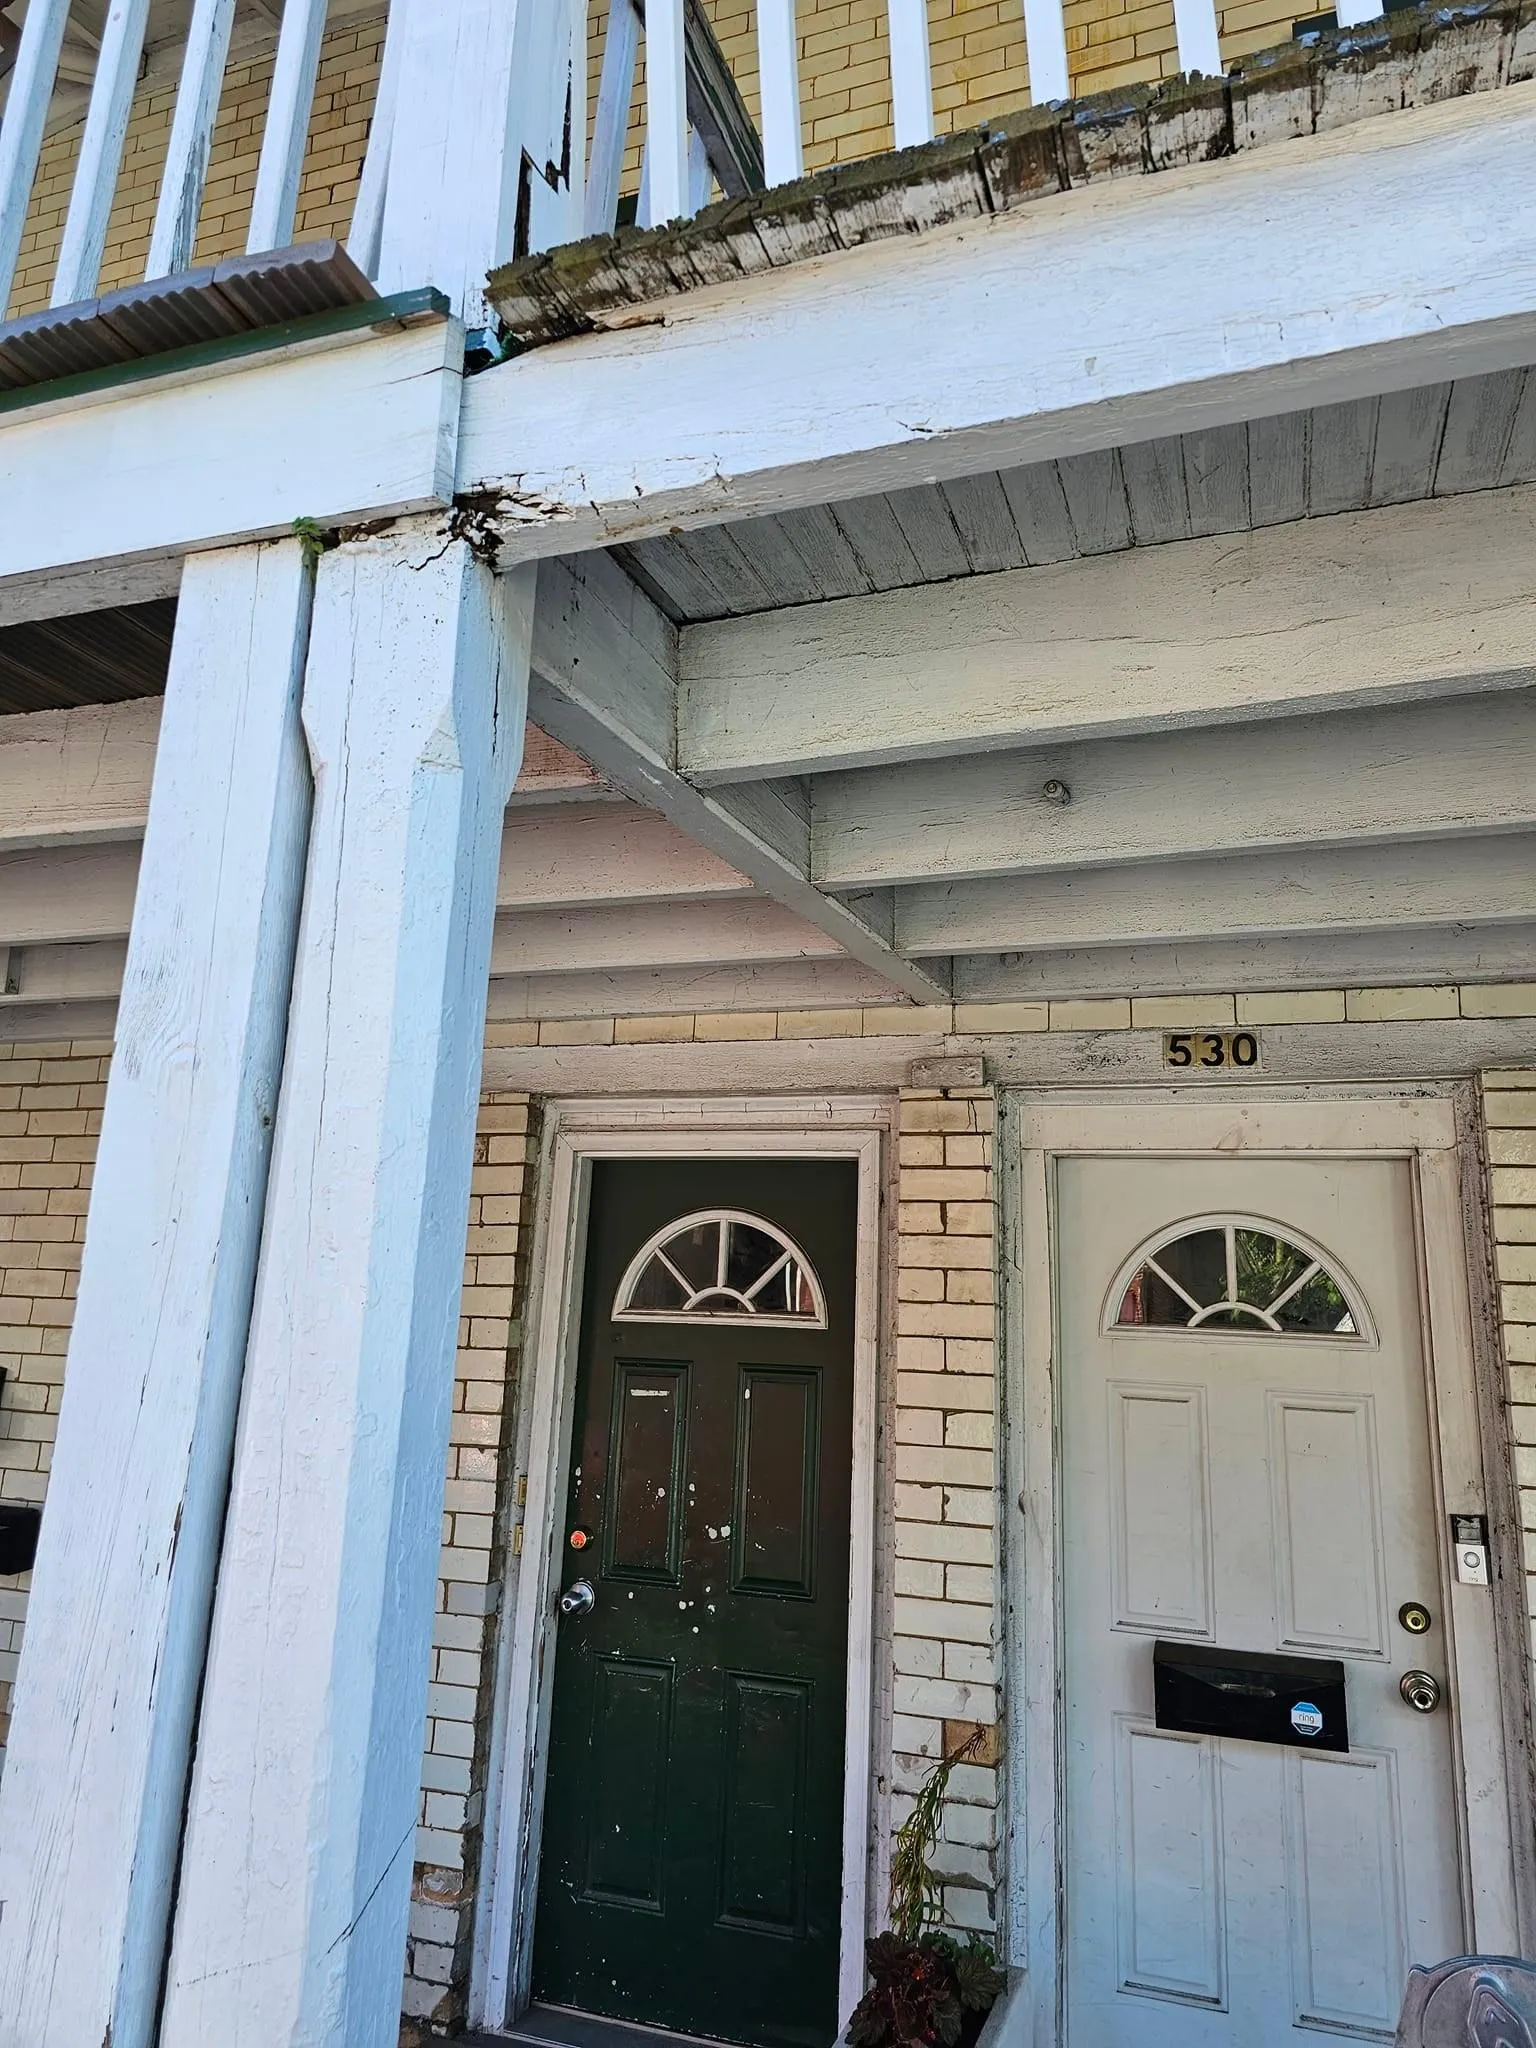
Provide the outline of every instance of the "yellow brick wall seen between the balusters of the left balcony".
[[[326,37],[299,186],[299,242],[346,238],[362,176],[381,53],[383,14],[350,20]],[[270,51],[248,63],[233,63],[225,76],[197,238],[199,262],[236,256],[246,246],[270,84]],[[156,78],[135,100],[106,233],[102,291],[133,285],[143,276],[174,104],[174,76]],[[47,305],[78,152],[80,123],[51,135],[43,147],[10,299],[12,317]]]

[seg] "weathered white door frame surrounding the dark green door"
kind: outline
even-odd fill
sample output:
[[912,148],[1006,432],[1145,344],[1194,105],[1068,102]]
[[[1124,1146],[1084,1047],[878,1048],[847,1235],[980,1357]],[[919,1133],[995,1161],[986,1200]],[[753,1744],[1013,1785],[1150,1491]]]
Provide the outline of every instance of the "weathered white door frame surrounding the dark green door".
[[848,1595],[848,1735],[844,1767],[842,1960],[846,2021],[864,1985],[870,1821],[874,1815],[874,1503],[881,1212],[895,1106],[840,1100],[645,1100],[547,1106],[526,1311],[518,1473],[526,1481],[522,1554],[508,1587],[496,1673],[492,1772],[485,1788],[483,1884],[475,1917],[471,2023],[508,2025],[526,2005],[539,1894],[549,1708],[555,1681],[557,1520],[571,1448],[586,1270],[586,1217],[596,1159],[854,1159],[854,1487]]

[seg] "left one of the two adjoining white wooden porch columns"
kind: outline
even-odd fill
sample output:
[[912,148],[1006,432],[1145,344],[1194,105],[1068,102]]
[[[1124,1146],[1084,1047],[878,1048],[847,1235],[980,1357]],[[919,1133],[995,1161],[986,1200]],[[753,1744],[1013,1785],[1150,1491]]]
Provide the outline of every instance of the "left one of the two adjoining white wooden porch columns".
[[299,926],[297,543],[186,563],[0,1782],[0,2044],[154,2034]]

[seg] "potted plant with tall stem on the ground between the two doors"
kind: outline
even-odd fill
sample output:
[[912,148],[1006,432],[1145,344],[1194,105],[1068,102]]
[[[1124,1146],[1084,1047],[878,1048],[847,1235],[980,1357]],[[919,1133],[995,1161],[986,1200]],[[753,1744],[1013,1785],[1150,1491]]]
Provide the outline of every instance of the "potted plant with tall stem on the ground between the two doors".
[[918,1788],[891,1851],[891,1931],[864,1948],[870,1987],[848,2021],[850,2048],[965,2048],[1008,1982],[979,1935],[958,1942],[938,1927],[940,1874],[932,1855],[948,1784],[981,1749],[981,1729],[940,1757]]

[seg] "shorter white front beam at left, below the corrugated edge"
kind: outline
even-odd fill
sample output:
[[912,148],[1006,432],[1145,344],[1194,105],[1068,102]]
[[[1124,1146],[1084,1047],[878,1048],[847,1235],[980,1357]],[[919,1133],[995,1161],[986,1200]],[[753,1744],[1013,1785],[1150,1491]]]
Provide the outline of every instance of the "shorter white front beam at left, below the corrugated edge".
[[[0,414],[6,580],[147,563],[449,502],[463,332],[424,319],[322,350],[231,358],[74,406]],[[90,479],[90,487],[82,487]],[[37,616],[25,610],[20,616]]]

